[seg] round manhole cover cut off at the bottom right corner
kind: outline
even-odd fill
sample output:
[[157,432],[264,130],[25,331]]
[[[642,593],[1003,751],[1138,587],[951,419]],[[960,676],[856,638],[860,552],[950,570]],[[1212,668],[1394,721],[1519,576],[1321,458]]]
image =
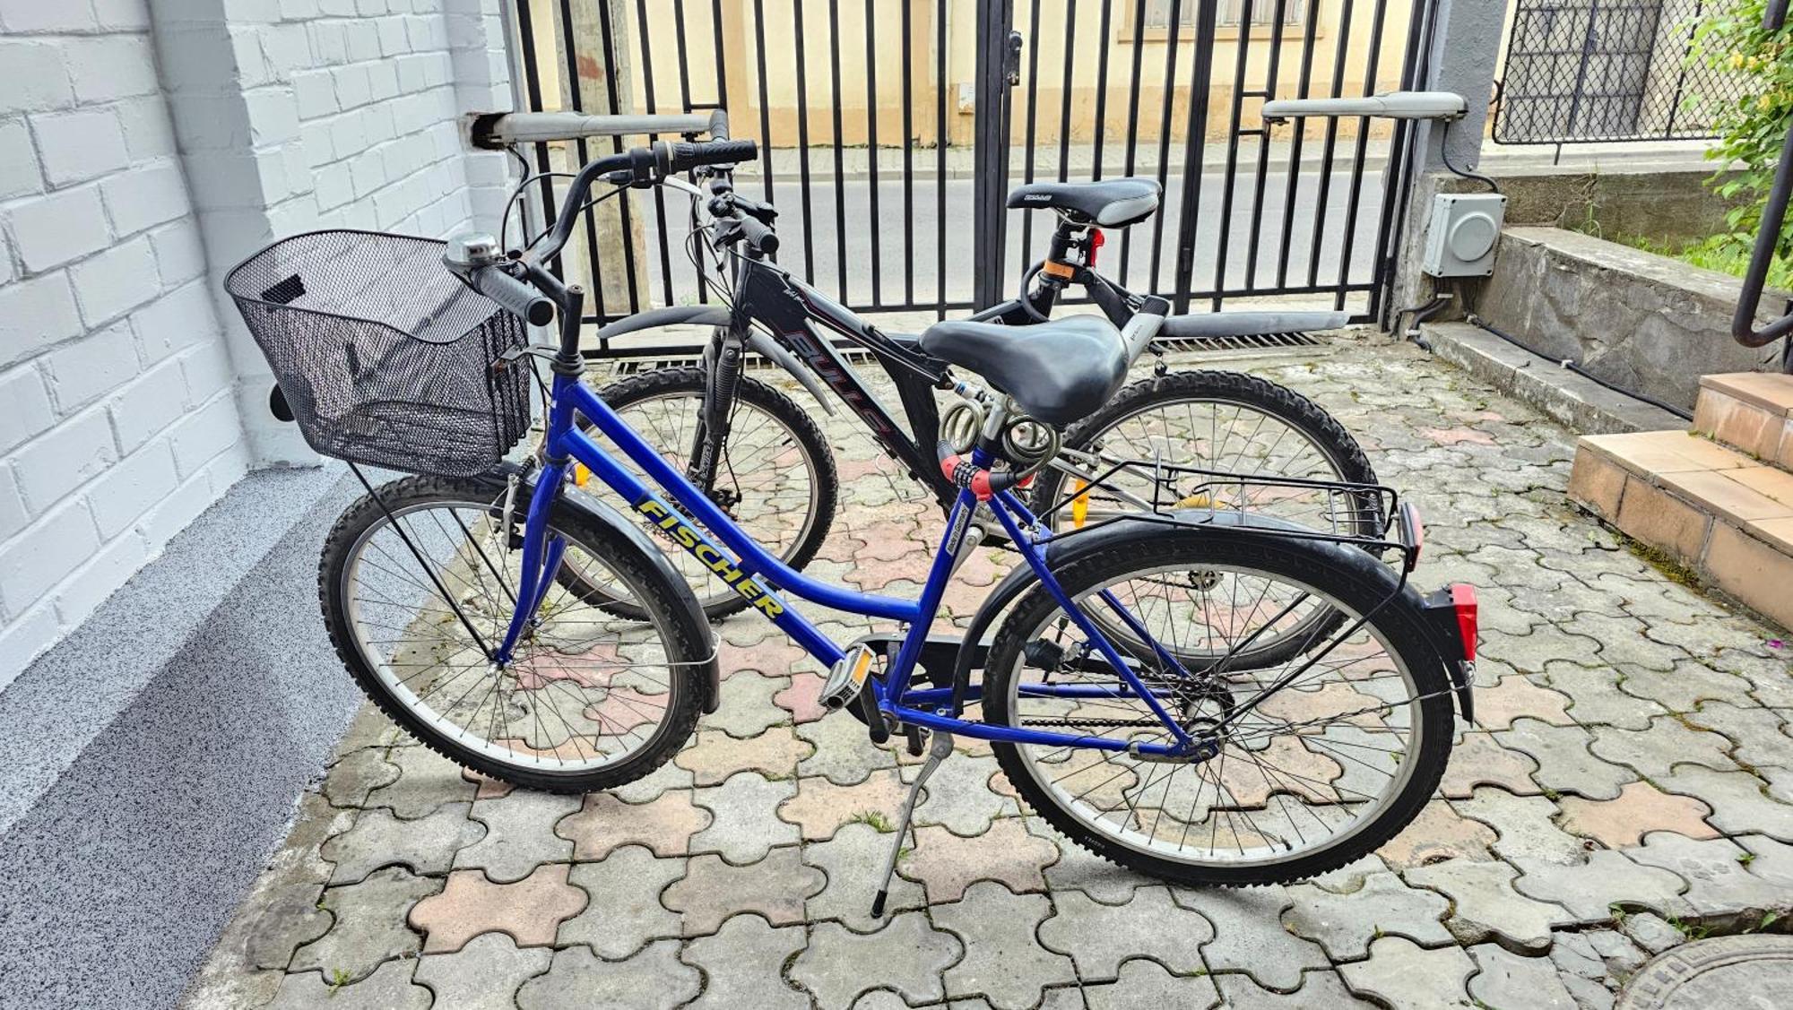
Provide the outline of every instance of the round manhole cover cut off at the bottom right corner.
[[1637,969],[1615,1010],[1793,1006],[1793,937],[1714,937]]

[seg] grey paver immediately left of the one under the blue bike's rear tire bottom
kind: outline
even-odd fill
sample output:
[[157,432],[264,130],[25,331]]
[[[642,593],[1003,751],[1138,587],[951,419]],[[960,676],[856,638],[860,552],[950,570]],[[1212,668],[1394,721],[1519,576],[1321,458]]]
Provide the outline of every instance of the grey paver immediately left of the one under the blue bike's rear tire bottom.
[[1078,978],[1115,978],[1126,958],[1146,956],[1178,974],[1203,969],[1201,944],[1214,926],[1171,899],[1171,888],[1142,886],[1124,906],[1101,904],[1081,892],[1054,895],[1056,913],[1040,926],[1040,942],[1078,963]]

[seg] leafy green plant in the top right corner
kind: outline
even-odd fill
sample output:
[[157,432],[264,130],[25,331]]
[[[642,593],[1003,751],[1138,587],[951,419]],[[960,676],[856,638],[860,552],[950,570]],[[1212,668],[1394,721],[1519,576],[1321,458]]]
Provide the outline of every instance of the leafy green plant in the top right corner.
[[[1719,197],[1736,201],[1730,210],[1730,235],[1714,236],[1716,249],[1741,251],[1746,258],[1755,242],[1763,204],[1780,145],[1793,125],[1793,25],[1763,29],[1766,0],[1736,0],[1709,13],[1694,27],[1693,56],[1707,66],[1741,75],[1743,97],[1718,106],[1714,129],[1718,143],[1709,158],[1741,163],[1737,172],[1719,170],[1707,183]],[[1782,229],[1779,258],[1793,256],[1793,229]]]

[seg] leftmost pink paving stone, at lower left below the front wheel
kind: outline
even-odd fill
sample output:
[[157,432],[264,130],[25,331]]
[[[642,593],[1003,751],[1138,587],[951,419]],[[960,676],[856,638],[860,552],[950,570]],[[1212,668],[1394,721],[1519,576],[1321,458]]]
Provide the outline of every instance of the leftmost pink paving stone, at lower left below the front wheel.
[[536,867],[527,877],[495,885],[481,870],[454,870],[441,894],[411,906],[407,920],[427,933],[423,953],[454,953],[481,933],[507,933],[518,947],[547,947],[554,931],[586,904],[567,883],[567,863]]

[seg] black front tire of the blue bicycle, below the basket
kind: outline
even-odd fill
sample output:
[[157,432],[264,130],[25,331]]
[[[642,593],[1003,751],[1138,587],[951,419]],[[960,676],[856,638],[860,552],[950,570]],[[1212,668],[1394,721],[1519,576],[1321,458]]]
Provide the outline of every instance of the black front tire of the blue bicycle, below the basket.
[[[502,496],[502,491],[498,492]],[[384,501],[384,509],[380,503]],[[489,509],[495,492],[489,484],[477,478],[409,476],[380,489],[380,501],[364,494],[337,518],[330,535],[325,539],[323,557],[317,564],[317,598],[325,614],[325,627],[335,646],[337,657],[373,704],[396,722],[402,729],[418,738],[425,747],[473,768],[484,775],[502,779],[531,790],[554,793],[585,793],[608,790],[640,779],[672,759],[697,727],[697,718],[708,702],[710,684],[699,672],[703,659],[712,654],[710,629],[696,618],[687,605],[680,605],[680,595],[687,593],[674,578],[667,577],[651,559],[640,553],[620,530],[588,521],[579,510],[559,503],[550,518],[550,526],[565,534],[581,550],[601,557],[606,564],[631,584],[631,589],[645,600],[658,620],[667,650],[669,693],[672,700],[665,706],[667,718],[663,729],[626,761],[604,765],[588,772],[545,772],[518,765],[507,765],[443,732],[429,720],[407,706],[393,688],[380,677],[373,663],[359,645],[350,616],[348,575],[351,552],[357,544],[368,543],[373,532],[387,523],[387,512],[403,516],[411,509],[430,503],[455,503]],[[484,503],[484,505],[477,505]]]

